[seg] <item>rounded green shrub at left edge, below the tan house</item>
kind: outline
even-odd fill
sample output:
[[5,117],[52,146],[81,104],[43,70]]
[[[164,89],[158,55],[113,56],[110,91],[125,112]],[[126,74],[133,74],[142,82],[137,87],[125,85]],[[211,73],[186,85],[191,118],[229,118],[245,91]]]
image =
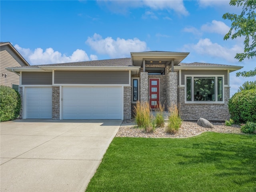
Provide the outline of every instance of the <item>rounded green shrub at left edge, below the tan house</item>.
[[0,122],[17,118],[20,114],[20,94],[7,86],[0,86]]

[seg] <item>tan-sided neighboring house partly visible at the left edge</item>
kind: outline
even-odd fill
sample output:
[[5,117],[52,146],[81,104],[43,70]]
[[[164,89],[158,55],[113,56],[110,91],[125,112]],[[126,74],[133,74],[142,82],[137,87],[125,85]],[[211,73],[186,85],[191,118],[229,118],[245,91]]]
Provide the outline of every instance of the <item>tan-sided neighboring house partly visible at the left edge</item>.
[[0,84],[18,91],[20,84],[19,74],[10,72],[6,68],[20,66],[29,66],[29,64],[10,42],[0,42]]

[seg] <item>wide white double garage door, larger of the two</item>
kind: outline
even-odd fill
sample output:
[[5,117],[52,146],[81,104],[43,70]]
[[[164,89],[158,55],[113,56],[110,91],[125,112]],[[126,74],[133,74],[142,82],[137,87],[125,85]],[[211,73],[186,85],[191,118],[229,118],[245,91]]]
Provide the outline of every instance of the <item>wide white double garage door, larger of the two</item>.
[[63,119],[122,119],[121,87],[63,87]]

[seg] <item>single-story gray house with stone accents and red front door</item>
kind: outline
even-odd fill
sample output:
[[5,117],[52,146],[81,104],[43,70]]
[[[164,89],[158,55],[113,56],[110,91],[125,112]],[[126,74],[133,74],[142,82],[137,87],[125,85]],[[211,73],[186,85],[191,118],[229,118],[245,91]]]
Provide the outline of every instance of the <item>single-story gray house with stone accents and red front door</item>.
[[8,68],[20,73],[22,118],[130,119],[136,101],[179,107],[183,120],[227,120],[229,73],[241,66],[181,63],[186,52]]

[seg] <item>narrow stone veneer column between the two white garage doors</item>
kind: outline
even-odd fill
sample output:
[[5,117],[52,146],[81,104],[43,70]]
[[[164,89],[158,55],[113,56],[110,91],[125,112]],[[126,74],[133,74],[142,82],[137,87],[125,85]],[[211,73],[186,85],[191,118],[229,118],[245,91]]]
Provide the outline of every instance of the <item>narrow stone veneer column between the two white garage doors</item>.
[[52,86],[52,119],[60,119],[60,86]]

